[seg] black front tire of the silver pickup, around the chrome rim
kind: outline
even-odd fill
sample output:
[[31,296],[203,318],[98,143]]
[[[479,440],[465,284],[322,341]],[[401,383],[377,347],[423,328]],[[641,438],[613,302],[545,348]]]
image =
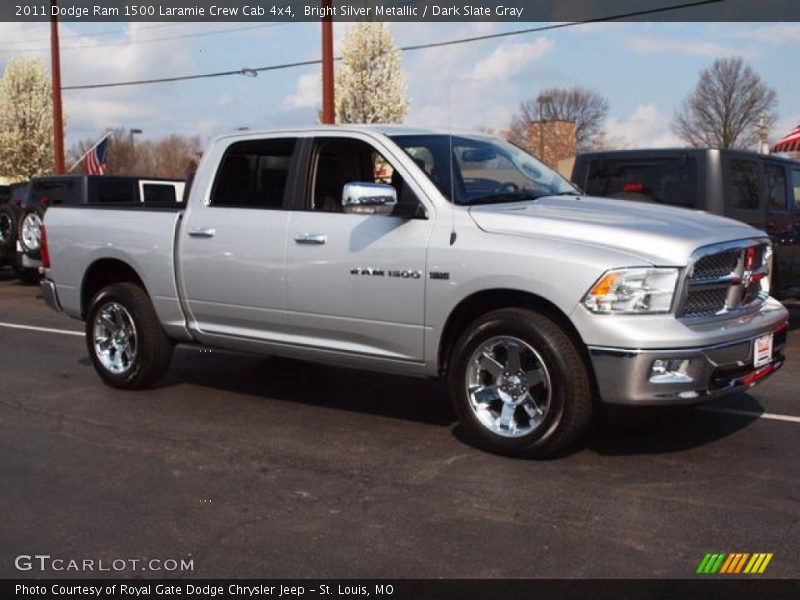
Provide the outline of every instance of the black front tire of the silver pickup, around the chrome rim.
[[[542,411],[544,415],[539,424],[520,437],[499,435],[484,424],[472,407],[468,390],[468,369],[473,364],[470,363],[473,353],[504,337],[527,344],[548,375],[549,405]],[[467,327],[453,349],[449,364],[448,385],[455,409],[469,441],[482,449],[503,455],[544,458],[575,444],[589,426],[593,403],[587,365],[576,341],[547,316],[518,308],[488,313]],[[525,390],[528,383],[525,380],[518,390]],[[515,420],[520,414],[516,412],[518,409],[513,409]],[[521,416],[526,418],[524,413]],[[529,422],[532,424],[533,419]]]

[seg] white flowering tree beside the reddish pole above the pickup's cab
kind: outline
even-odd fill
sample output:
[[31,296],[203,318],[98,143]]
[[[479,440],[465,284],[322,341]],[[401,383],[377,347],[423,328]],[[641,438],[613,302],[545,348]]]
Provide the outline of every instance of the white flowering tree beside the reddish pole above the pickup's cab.
[[356,23],[336,70],[336,121],[402,123],[407,111],[408,92],[392,34],[383,23]]

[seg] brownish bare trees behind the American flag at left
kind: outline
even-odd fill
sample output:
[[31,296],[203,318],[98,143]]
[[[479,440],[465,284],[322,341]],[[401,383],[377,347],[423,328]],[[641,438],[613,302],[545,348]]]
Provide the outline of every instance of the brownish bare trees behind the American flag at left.
[[[79,160],[101,135],[73,145],[69,150],[70,161]],[[133,145],[130,132],[118,128],[111,130],[109,136],[107,173],[183,179],[197,168],[202,155],[203,142],[198,136],[171,134],[158,140],[137,141]],[[82,169],[82,166],[76,167],[78,172]]]

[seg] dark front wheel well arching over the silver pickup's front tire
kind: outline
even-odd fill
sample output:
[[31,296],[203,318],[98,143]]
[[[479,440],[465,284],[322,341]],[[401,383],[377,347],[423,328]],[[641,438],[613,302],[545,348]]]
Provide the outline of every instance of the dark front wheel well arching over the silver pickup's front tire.
[[586,366],[594,378],[592,363],[589,359],[586,344],[583,343],[578,330],[569,320],[561,309],[555,304],[530,292],[520,290],[494,289],[477,292],[464,298],[458,306],[450,313],[445,323],[442,337],[439,341],[439,373],[447,373],[450,354],[453,346],[458,340],[458,336],[464,331],[472,321],[487,312],[500,308],[528,308],[540,314],[546,315],[564,328],[564,331],[576,342],[581,355],[584,357]]

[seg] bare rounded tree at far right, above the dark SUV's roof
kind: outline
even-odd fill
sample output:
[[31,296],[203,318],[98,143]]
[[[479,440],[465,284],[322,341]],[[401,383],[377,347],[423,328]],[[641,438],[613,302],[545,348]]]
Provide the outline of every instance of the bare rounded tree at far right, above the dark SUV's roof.
[[741,58],[721,58],[700,73],[697,87],[675,113],[672,130],[687,144],[702,148],[749,148],[778,118],[775,90]]

